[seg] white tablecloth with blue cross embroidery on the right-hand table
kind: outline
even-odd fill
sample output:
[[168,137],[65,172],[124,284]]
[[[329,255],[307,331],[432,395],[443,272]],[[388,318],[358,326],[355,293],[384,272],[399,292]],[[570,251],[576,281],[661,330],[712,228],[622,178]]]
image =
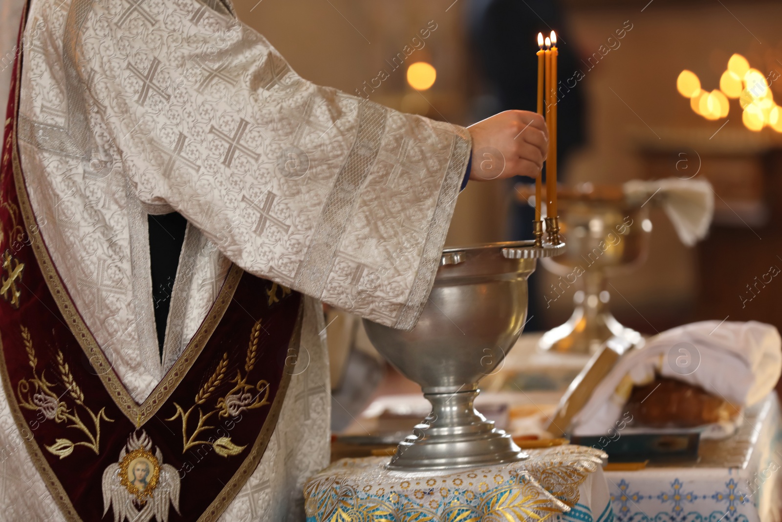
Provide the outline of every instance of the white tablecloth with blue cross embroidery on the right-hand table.
[[607,471],[616,522],[778,522],[782,424],[777,392],[745,409],[741,419],[732,437],[701,440],[698,463]]

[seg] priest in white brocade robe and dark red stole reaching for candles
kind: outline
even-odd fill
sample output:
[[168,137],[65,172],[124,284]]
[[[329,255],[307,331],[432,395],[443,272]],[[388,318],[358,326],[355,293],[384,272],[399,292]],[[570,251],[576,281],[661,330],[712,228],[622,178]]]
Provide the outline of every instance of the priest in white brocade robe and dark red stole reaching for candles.
[[30,0],[0,172],[0,518],[302,520],[328,464],[321,301],[411,329],[470,128],[313,85],[228,0]]

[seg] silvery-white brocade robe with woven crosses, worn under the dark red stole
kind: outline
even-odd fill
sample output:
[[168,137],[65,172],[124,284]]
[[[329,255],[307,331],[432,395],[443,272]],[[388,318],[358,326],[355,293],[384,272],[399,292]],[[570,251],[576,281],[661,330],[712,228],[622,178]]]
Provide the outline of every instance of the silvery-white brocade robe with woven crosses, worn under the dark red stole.
[[[300,520],[303,481],[328,464],[317,301],[414,325],[468,132],[303,80],[220,0],[32,0],[20,88],[41,234],[136,401],[188,344],[231,262],[310,296],[277,428],[221,517]],[[161,363],[147,216],[170,211],[189,224]],[[60,519],[5,398],[0,479],[0,520]]]

